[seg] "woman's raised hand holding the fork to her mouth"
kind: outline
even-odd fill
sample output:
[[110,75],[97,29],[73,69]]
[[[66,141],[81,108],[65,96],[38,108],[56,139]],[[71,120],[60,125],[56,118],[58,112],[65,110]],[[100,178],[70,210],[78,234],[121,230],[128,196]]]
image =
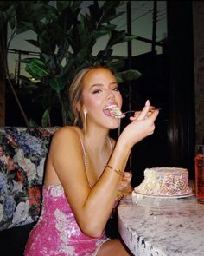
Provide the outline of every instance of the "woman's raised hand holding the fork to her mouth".
[[121,147],[131,149],[138,141],[154,133],[155,120],[159,111],[152,108],[147,101],[141,112],[136,112],[135,116],[130,117],[131,123],[124,128],[118,138]]

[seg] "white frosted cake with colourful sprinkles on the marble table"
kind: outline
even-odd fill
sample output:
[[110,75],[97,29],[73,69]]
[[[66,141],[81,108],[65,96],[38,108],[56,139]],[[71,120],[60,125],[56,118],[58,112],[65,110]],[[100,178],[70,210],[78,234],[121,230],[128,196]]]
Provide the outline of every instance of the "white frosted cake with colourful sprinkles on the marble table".
[[178,167],[153,167],[144,170],[143,182],[134,188],[137,194],[174,196],[192,193],[188,170]]

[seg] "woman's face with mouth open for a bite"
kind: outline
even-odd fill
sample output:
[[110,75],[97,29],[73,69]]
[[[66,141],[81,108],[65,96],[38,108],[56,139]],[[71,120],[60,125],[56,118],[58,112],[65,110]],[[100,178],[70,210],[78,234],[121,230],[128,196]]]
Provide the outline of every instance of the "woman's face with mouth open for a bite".
[[105,108],[109,105],[122,106],[116,77],[108,69],[91,69],[83,78],[83,108],[87,121],[105,128],[118,128],[119,119],[110,115]]

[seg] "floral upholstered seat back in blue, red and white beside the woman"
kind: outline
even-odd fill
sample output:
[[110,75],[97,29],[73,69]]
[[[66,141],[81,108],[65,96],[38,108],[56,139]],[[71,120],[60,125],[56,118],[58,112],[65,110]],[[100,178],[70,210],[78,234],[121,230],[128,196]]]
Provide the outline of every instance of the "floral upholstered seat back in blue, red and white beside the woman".
[[57,127],[0,127],[0,231],[38,219],[41,185]]

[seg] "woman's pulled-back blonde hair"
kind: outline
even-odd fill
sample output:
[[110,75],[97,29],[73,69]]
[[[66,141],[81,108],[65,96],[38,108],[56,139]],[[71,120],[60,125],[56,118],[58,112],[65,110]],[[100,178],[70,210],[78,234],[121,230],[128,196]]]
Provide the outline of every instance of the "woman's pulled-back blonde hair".
[[[73,82],[69,88],[69,101],[71,110],[73,111],[74,121],[73,125],[77,125],[80,128],[83,128],[84,124],[84,115],[82,112],[83,102],[82,102],[82,91],[83,91],[83,78],[84,76],[92,69],[99,69],[105,67],[102,66],[94,66],[88,67],[85,69],[80,70],[80,72],[73,78]],[[109,69],[108,69],[109,70]],[[111,70],[110,70],[111,71]]]

